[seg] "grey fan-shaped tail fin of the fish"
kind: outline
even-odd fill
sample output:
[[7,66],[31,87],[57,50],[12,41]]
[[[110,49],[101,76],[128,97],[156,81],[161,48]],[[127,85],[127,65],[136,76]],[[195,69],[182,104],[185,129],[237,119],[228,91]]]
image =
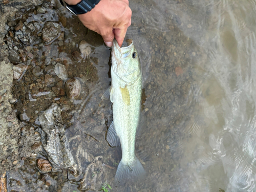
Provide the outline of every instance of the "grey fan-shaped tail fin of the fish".
[[120,161],[117,167],[115,181],[118,183],[137,182],[143,180],[145,176],[146,173],[142,164],[135,157],[131,164],[125,164],[122,160]]

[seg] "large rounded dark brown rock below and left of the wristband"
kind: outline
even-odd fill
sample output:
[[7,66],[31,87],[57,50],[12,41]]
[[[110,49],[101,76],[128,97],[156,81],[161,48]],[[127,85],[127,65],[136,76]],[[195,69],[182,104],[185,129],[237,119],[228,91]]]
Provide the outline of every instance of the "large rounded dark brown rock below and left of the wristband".
[[60,25],[54,22],[46,22],[42,29],[42,40],[49,44],[52,40],[57,38],[61,33]]

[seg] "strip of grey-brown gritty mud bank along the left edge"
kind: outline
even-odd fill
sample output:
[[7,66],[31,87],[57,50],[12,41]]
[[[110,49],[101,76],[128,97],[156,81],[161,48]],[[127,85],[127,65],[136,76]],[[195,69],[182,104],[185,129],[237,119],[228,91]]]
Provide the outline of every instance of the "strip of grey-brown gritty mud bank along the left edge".
[[17,137],[20,130],[20,122],[16,118],[16,113],[11,108],[11,87],[13,81],[13,64],[9,62],[5,54],[6,46],[4,36],[7,33],[7,20],[11,19],[15,12],[41,4],[41,1],[4,1],[0,3],[0,173],[5,174],[6,170],[13,169],[17,164],[18,145]]

